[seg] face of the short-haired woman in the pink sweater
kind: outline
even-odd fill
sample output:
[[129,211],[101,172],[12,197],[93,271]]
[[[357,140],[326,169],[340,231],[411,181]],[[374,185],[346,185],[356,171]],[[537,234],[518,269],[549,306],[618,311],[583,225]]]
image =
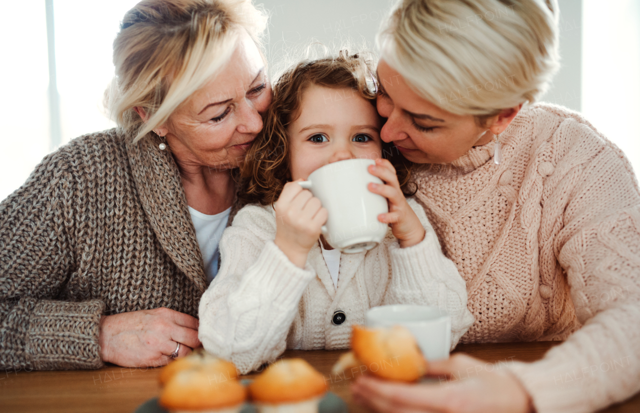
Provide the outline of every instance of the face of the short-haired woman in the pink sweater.
[[415,93],[384,60],[378,63],[378,79],[378,113],[387,118],[380,137],[393,142],[412,162],[451,163],[471,147],[491,142],[494,133],[508,126],[507,122],[502,128],[496,117],[480,127],[472,115],[454,115],[438,108]]

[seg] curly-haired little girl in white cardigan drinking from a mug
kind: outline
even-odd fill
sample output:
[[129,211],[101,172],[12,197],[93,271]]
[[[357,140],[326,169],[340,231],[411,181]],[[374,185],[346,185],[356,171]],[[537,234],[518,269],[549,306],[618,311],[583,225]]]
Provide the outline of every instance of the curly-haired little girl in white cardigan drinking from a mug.
[[[239,193],[251,203],[224,232],[220,271],[200,301],[204,348],[243,374],[285,348],[348,348],[351,325],[363,324],[376,305],[447,310],[451,348],[474,322],[465,281],[422,207],[403,195],[406,161],[394,160],[399,180],[385,159],[394,158],[393,147],[380,139],[371,73],[362,56],[340,53],[298,63],[273,86],[264,129],[243,165]],[[351,158],[376,159],[369,173],[385,183],[369,190],[388,199],[378,220],[390,229],[377,247],[340,254],[321,236],[326,209],[297,182]]]

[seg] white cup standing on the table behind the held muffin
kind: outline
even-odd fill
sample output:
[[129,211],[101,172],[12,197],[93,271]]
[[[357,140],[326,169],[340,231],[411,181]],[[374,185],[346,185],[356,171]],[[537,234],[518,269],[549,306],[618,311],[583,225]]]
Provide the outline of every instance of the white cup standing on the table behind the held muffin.
[[367,311],[367,327],[408,328],[427,360],[449,358],[451,347],[451,316],[431,305],[381,305]]

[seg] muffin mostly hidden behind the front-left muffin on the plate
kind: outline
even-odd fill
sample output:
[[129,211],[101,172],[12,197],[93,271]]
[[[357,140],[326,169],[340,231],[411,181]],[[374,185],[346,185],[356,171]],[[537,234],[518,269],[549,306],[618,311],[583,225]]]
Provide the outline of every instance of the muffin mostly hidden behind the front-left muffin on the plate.
[[166,382],[168,382],[176,373],[179,373],[179,371],[193,368],[208,371],[211,377],[215,377],[216,380],[220,382],[238,377],[236,366],[232,362],[218,359],[218,357],[200,349],[195,350],[186,357],[173,360],[164,366],[160,372],[160,384],[166,384]]

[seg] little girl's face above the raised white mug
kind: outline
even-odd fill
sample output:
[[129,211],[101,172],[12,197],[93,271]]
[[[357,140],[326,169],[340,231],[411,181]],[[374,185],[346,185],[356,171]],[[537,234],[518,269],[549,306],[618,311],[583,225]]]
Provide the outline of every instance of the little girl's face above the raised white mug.
[[289,124],[291,177],[307,179],[317,168],[382,155],[381,121],[371,102],[349,88],[310,85],[300,116]]

